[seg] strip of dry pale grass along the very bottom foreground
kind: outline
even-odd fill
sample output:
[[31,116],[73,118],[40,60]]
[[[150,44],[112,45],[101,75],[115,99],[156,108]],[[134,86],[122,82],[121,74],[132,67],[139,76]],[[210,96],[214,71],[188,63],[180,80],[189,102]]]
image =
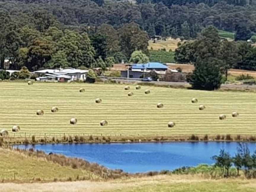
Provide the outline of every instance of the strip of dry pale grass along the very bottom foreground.
[[3,183],[1,192],[254,192],[255,180],[208,180],[192,175],[158,175],[106,182],[76,181],[56,183]]

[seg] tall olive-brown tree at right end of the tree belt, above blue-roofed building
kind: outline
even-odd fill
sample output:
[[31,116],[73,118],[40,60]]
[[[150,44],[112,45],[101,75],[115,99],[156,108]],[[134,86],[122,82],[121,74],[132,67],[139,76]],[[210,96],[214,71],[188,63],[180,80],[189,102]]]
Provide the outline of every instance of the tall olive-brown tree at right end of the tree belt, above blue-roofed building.
[[148,34],[135,23],[125,24],[119,29],[121,50],[129,57],[135,50],[148,52]]

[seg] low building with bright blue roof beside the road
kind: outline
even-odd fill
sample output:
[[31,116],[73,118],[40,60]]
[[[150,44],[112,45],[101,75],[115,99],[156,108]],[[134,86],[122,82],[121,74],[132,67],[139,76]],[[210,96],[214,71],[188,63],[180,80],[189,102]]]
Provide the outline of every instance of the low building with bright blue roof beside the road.
[[168,67],[162,63],[133,64],[132,71],[167,71]]

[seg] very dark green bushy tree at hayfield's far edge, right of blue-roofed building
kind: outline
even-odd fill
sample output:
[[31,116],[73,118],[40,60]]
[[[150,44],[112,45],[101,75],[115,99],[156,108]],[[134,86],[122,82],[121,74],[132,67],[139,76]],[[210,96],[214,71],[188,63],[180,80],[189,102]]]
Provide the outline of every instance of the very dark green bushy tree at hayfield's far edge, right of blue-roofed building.
[[197,60],[191,76],[194,89],[215,90],[220,88],[222,75],[216,60]]

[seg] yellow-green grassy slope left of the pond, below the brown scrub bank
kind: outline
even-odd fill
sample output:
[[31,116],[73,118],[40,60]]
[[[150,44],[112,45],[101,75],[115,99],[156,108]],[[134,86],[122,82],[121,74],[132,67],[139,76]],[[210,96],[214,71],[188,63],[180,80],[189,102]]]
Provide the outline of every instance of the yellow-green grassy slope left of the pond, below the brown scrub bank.
[[[29,157],[25,154],[5,150],[0,148],[0,180],[16,180],[22,181],[53,181],[67,180],[69,177],[74,180],[77,175],[88,177],[89,172],[81,169],[72,169],[71,167],[60,166],[59,164]],[[1,185],[1,184],[0,184]],[[0,187],[1,188],[1,187]]]

